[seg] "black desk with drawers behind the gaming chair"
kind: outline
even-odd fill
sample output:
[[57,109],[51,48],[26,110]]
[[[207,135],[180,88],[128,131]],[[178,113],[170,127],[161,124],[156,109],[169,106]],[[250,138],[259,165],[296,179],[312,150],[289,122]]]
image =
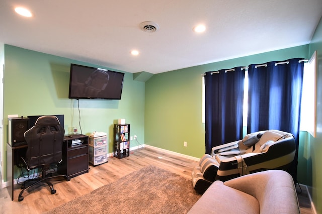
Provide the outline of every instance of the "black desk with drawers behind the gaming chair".
[[[83,144],[71,146],[72,140],[82,139]],[[14,166],[19,164],[21,157],[27,151],[27,144],[12,147],[7,143],[7,186],[9,195],[14,200]],[[88,136],[72,135],[70,138],[65,136],[62,146],[62,162],[58,164],[58,173],[68,177],[74,177],[85,172],[89,172],[88,157]]]

